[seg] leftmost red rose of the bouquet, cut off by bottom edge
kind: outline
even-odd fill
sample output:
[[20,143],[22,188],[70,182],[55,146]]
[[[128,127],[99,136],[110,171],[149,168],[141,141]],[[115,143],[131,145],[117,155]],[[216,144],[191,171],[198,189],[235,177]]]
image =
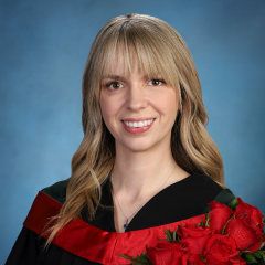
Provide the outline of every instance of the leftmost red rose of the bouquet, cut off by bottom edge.
[[156,247],[147,246],[147,256],[153,265],[182,265],[187,246],[179,242],[158,243]]

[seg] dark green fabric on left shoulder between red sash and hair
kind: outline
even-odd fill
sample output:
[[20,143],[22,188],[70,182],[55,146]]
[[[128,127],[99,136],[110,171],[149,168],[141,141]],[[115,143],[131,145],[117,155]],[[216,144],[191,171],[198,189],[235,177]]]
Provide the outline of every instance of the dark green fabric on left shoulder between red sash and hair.
[[41,191],[46,195],[51,197],[60,203],[64,203],[66,200],[66,188],[68,184],[70,178],[66,180],[59,181],[50,187],[42,189]]

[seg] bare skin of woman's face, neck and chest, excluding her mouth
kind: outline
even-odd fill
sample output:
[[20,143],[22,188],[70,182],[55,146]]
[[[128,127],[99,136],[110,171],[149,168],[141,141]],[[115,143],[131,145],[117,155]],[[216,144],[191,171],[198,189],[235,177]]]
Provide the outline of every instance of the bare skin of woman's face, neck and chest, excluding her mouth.
[[[138,72],[136,65],[130,76],[125,76],[120,62],[123,60],[117,61],[114,73],[102,80],[100,108],[116,145],[116,161],[110,178],[113,189],[129,218],[161,189],[187,178],[189,173],[176,163],[170,147],[171,129],[180,109],[178,93],[168,84],[156,81],[162,80],[162,76],[149,80]],[[156,120],[142,134],[128,132],[121,120],[139,117]],[[113,198],[115,227],[121,233],[126,218]]]

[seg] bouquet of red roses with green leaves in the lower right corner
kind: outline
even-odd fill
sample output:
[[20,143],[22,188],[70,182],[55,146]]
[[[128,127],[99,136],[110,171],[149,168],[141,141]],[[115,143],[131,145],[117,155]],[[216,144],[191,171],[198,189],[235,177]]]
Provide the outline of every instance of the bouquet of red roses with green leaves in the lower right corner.
[[265,262],[264,215],[236,198],[229,206],[210,202],[211,211],[198,224],[180,224],[165,231],[167,239],[146,246],[137,257],[120,256],[146,265],[245,265]]

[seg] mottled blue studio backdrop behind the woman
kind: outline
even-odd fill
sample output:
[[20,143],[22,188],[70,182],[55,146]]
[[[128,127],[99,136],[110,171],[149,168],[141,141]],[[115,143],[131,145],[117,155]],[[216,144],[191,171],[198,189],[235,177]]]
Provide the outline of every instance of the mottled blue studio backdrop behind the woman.
[[38,191],[71,174],[81,81],[112,18],[158,17],[193,54],[226,186],[265,213],[265,1],[0,1],[0,264]]

